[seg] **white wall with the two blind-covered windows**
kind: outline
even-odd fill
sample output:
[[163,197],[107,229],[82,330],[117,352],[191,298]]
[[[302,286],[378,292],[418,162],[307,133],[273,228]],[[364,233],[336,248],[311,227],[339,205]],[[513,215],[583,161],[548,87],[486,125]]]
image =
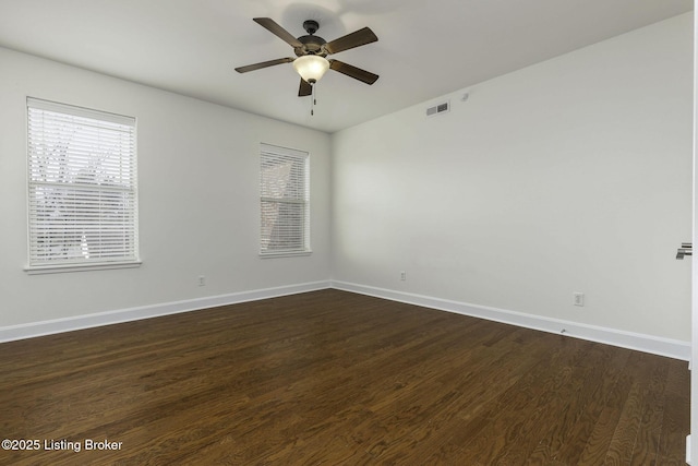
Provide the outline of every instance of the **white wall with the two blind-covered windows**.
[[[0,328],[329,277],[329,135],[7,49],[0,70]],[[137,118],[140,268],[24,272],[26,96]],[[311,153],[310,256],[257,256],[260,142]]]

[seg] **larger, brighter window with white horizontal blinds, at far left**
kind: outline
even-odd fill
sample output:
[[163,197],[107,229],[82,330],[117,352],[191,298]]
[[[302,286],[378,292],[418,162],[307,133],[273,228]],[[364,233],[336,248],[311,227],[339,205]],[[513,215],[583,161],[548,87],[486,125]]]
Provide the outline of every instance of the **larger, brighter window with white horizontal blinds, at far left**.
[[27,98],[28,271],[139,263],[135,119]]

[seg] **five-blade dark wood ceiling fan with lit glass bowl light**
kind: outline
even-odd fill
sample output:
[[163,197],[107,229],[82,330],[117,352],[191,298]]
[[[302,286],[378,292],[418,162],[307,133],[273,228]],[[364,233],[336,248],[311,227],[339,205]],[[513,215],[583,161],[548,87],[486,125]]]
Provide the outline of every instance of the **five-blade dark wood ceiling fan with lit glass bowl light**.
[[328,55],[338,53],[378,40],[369,27],[347,34],[328,43],[322,37],[314,35],[320,28],[320,24],[313,20],[303,22],[303,28],[308,35],[298,38],[293,37],[270,17],[254,17],[253,21],[293,47],[297,58],[279,58],[255,64],[248,64],[246,67],[239,67],[236,68],[238,73],[246,73],[262,68],[274,67],[275,64],[292,62],[293,68],[298,74],[301,75],[301,84],[298,89],[299,97],[312,95],[313,84],[315,84],[328,69],[338,71],[366,84],[373,84],[378,79],[377,74],[345,63],[344,61],[326,58]]

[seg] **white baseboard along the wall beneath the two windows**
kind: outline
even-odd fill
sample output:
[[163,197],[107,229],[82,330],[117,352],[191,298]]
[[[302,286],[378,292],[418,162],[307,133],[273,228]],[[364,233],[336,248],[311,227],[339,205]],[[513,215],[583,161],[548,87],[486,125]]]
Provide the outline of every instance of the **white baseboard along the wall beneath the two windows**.
[[256,301],[260,299],[275,298],[278,296],[315,291],[329,287],[330,282],[328,280],[313,282],[281,286],[276,288],[265,288],[251,291],[233,292],[228,295],[209,296],[205,298],[189,299],[184,301],[167,302],[161,304],[142,306],[137,308],[99,312],[87,315],[76,315],[73,318],[33,322],[28,324],[11,325],[0,327],[0,343],[33,338],[36,336],[51,335],[62,332],[72,332],[76,330],[103,325],[118,324],[122,322],[137,321],[142,319],[157,318],[161,315],[177,314],[180,312],[196,311],[200,309],[215,308],[218,306]]

